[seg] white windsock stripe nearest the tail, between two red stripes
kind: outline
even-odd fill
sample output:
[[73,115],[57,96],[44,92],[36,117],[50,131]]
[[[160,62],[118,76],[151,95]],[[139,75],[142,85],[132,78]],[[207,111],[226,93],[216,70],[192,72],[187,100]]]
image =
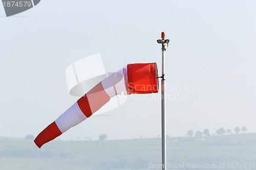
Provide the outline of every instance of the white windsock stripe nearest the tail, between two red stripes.
[[74,103],[68,110],[63,112],[56,120],[55,123],[60,132],[64,133],[70,128],[80,124],[87,117],[79,108],[77,102]]

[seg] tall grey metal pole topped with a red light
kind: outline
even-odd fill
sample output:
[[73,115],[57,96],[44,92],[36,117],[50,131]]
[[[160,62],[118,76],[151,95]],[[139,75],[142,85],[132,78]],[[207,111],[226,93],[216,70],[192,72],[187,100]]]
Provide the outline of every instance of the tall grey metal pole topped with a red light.
[[165,79],[164,79],[164,75],[165,75],[165,62],[164,62],[164,52],[167,49],[169,40],[165,39],[165,34],[164,32],[162,32],[161,34],[161,38],[157,40],[158,43],[162,44],[162,76],[161,78],[161,104],[162,104],[162,108],[161,108],[161,130],[162,130],[162,170],[165,170],[166,167],[166,134],[165,134]]

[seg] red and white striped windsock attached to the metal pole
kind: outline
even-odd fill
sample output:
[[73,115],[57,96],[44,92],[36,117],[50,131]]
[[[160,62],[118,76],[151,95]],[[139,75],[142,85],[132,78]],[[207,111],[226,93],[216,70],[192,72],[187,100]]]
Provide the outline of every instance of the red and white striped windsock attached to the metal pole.
[[106,77],[84,94],[68,110],[46,127],[34,142],[38,148],[70,128],[80,124],[108,103],[115,95],[147,94],[158,92],[156,63],[127,64]]

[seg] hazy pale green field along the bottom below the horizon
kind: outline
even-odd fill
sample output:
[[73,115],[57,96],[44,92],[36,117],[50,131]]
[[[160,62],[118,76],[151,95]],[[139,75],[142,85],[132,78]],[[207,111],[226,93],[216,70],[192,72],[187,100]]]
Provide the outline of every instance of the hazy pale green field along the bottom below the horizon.
[[[198,169],[256,169],[253,164],[248,167],[248,163],[256,163],[256,133],[167,138],[166,145],[169,165],[216,164],[213,168]],[[224,168],[220,168],[223,163]],[[32,140],[0,138],[0,169],[159,169],[153,168],[158,164],[161,164],[160,138],[54,140],[41,149]]]

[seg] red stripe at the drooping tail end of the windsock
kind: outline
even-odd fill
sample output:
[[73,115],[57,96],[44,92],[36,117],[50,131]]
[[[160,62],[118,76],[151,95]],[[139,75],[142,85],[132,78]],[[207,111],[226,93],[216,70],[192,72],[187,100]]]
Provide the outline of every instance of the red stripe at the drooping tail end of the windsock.
[[41,131],[41,133],[39,133],[39,135],[35,138],[34,142],[38,148],[41,148],[43,144],[55,139],[61,134],[62,133],[60,132],[59,128],[57,127],[55,122],[53,122],[48,127],[46,127],[46,129]]

